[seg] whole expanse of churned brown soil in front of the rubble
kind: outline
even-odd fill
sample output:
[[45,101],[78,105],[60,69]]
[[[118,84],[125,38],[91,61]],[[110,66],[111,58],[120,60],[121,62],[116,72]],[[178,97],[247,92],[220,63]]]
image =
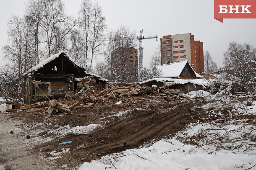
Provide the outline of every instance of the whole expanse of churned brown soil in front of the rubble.
[[[62,153],[57,162],[49,161],[52,167],[63,169],[75,168],[83,162],[99,159],[101,156],[122,152],[126,149],[138,148],[141,145],[163,138],[172,137],[189,123],[197,121],[198,116],[204,116],[212,109],[205,110],[200,106],[210,101],[200,100],[172,100],[163,101],[157,98],[123,100],[122,105],[112,103],[96,103],[90,108],[77,109],[70,114],[58,114],[47,119],[47,108],[34,108],[29,111],[9,113],[8,120],[22,121],[22,128],[31,127],[31,131],[39,131],[36,137],[46,139],[52,137],[50,142],[39,142],[33,145],[30,152],[34,155],[42,154],[44,157],[53,157],[49,152],[61,152],[63,148],[70,148],[69,152]],[[139,108],[139,109],[136,109]],[[121,117],[113,116],[116,113],[127,111]],[[42,124],[42,122],[44,122]],[[40,126],[34,127],[41,123]],[[87,126],[89,124],[101,126],[88,134],[69,134],[59,137],[49,133],[49,129],[58,126],[70,125]],[[47,128],[45,128],[45,126]],[[10,129],[11,130],[11,129]],[[42,131],[43,130],[43,131]],[[26,133],[20,134],[26,137]],[[70,144],[58,145],[59,142],[72,141]],[[1,154],[0,154],[1,155]],[[8,160],[0,160],[5,164]],[[9,168],[12,169],[12,168]]]

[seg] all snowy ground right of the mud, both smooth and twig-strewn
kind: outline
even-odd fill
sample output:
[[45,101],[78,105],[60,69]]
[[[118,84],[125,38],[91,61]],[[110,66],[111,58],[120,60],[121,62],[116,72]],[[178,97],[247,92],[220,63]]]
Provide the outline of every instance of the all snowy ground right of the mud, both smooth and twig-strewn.
[[[187,95],[214,99],[202,106],[204,109],[232,106],[235,108],[233,116],[242,112],[256,115],[256,101],[238,101],[232,95],[211,95],[202,90]],[[218,112],[214,116],[223,115]],[[191,123],[174,138],[152,143],[84,162],[79,170],[245,170],[250,167],[256,170],[255,119]]]

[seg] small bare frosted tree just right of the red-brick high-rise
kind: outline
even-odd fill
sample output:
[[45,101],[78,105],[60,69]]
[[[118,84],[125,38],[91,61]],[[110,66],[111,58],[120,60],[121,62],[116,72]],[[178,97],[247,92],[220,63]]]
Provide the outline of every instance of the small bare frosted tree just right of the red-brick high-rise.
[[218,70],[217,63],[212,60],[212,56],[208,50],[204,53],[204,75],[214,73]]

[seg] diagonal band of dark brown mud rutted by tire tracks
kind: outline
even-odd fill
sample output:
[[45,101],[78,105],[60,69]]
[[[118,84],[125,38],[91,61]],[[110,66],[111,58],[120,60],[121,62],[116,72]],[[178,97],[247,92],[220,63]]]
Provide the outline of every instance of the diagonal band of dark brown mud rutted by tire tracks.
[[[105,118],[105,121],[109,121],[107,125],[89,134],[72,134],[57,138],[37,149],[41,148],[43,152],[61,152],[63,147],[71,148],[70,152],[63,153],[62,157],[57,159],[59,165],[63,165],[67,160],[72,160],[70,163],[73,165],[79,165],[84,161],[90,162],[106,154],[138,148],[152,139],[170,137],[193,121],[187,113],[191,112],[190,108],[193,106],[193,102],[165,104],[131,111],[120,118],[108,117]],[[73,141],[71,144],[57,145],[58,142],[70,140]]]

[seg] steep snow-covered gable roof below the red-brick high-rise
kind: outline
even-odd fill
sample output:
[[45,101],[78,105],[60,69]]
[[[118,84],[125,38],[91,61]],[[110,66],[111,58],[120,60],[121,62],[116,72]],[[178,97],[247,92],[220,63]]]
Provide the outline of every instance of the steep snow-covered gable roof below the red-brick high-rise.
[[[188,60],[184,60],[180,62],[173,62],[170,64],[157,65],[157,68],[162,70],[162,77],[166,77],[166,78],[179,77],[187,63],[188,63]],[[189,66],[191,67],[190,64]],[[193,70],[192,67],[191,69]],[[202,78],[202,76],[196,73],[194,70],[193,72],[196,74],[196,77]]]

